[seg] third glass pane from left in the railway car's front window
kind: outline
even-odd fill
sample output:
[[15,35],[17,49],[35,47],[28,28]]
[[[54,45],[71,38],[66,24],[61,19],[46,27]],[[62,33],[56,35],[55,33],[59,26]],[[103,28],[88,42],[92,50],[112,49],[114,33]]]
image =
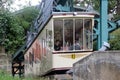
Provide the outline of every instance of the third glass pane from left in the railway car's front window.
[[75,20],[75,50],[83,49],[83,20]]

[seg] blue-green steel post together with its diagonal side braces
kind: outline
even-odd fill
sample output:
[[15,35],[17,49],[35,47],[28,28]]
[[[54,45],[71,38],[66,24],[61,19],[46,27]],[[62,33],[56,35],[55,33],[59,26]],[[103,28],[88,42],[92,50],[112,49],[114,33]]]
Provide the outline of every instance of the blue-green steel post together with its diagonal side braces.
[[100,18],[95,19],[94,39],[97,39],[98,49],[103,42],[108,42],[109,33],[120,26],[120,20],[112,22],[108,20],[108,0],[100,0]]

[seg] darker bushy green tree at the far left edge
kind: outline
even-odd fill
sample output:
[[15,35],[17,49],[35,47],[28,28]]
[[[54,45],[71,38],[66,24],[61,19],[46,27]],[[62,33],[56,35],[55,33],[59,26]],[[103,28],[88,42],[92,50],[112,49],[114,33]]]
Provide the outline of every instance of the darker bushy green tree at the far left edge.
[[15,16],[7,10],[0,11],[0,45],[7,53],[13,53],[23,43],[23,27]]

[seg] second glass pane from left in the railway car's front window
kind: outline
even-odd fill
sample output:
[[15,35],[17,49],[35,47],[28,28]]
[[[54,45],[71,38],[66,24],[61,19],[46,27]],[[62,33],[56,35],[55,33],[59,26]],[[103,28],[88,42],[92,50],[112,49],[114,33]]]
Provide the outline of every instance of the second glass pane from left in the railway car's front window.
[[64,20],[64,50],[73,50],[73,20]]

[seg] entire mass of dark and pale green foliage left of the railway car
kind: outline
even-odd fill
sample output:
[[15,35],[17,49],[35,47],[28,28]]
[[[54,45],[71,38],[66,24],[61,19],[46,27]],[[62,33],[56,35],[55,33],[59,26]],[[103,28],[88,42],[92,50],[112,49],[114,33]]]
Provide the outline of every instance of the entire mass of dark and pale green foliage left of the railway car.
[[15,53],[25,43],[27,30],[37,15],[35,7],[27,7],[14,14],[6,9],[0,11],[0,46],[6,53]]

